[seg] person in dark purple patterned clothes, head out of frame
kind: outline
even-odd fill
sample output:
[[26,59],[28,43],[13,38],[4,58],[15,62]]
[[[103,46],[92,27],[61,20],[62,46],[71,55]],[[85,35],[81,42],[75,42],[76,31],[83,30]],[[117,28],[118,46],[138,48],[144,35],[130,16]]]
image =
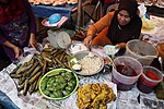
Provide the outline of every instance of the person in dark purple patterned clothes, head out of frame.
[[0,45],[11,61],[26,46],[35,48],[36,21],[27,0],[0,0]]

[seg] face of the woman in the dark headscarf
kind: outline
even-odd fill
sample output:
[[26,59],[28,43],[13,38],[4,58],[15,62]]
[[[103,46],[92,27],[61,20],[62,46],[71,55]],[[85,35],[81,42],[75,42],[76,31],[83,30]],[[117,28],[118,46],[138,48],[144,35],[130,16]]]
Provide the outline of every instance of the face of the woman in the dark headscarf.
[[130,22],[130,15],[128,11],[126,10],[120,10],[117,14],[118,23],[121,26],[127,25]]

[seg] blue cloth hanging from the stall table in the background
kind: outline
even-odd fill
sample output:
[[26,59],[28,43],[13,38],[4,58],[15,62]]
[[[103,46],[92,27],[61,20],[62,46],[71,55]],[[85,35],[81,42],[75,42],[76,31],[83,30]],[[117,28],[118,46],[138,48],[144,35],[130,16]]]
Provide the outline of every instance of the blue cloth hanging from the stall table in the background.
[[60,13],[63,16],[70,17],[71,10],[78,4],[66,4],[59,7],[52,5],[35,5],[31,4],[36,17],[49,17],[54,13]]

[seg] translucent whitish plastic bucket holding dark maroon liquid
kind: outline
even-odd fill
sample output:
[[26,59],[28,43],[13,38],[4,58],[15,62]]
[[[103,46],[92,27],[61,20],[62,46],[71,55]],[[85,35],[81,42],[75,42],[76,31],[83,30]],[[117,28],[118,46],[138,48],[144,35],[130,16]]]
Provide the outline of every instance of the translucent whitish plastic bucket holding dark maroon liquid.
[[[126,56],[117,57],[114,60],[114,63],[116,66],[113,66],[112,81],[117,84],[117,88],[119,90],[131,89],[142,73],[142,64],[138,60],[131,57],[126,57]],[[118,64],[130,66],[136,72],[136,75],[128,76],[128,75],[121,74],[116,69]]]

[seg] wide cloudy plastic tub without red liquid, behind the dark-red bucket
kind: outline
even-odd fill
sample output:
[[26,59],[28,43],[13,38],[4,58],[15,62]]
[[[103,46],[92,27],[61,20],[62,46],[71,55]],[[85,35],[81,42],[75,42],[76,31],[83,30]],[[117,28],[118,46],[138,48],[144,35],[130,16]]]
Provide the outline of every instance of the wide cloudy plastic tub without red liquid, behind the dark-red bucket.
[[150,65],[157,55],[157,49],[149,43],[139,39],[127,43],[125,56],[137,59],[142,65]]

